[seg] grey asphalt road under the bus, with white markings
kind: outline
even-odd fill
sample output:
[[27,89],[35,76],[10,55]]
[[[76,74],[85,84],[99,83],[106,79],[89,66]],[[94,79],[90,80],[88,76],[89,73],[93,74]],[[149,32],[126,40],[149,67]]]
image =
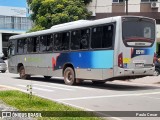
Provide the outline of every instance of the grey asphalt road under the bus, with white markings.
[[[72,105],[74,107],[97,111],[102,116],[106,111],[159,111],[160,116],[160,76],[145,77],[131,81],[116,80],[103,85],[93,85],[85,81],[79,86],[67,86],[62,79],[46,80],[43,76],[33,76],[30,80],[19,79],[18,74],[0,73],[0,85],[10,86],[27,92],[32,85],[33,94]],[[116,120],[137,120],[127,117],[129,113],[120,113]],[[136,114],[137,112],[133,113]],[[154,113],[154,112],[153,112]],[[160,117],[138,117],[138,120],[158,120]]]

